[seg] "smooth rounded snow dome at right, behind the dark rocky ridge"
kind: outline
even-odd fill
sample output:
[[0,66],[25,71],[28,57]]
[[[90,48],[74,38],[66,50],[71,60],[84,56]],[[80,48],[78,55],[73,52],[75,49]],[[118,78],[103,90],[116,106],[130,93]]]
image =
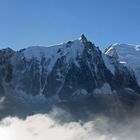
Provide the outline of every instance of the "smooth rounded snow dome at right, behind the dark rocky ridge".
[[140,45],[113,44],[105,50],[105,54],[132,68],[140,85]]

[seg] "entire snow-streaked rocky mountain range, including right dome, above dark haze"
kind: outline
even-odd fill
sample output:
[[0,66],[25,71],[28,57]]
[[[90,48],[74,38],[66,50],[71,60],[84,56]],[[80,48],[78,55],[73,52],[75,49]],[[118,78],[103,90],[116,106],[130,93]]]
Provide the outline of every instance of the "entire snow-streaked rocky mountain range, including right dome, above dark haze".
[[84,35],[51,47],[0,50],[0,94],[14,99],[81,101],[140,95],[140,47],[114,44],[102,53]]

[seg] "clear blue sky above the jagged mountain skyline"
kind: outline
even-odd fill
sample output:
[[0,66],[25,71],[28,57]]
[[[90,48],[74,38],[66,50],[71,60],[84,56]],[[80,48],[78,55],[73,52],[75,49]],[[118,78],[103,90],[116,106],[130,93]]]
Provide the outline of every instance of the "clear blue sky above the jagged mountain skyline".
[[140,1],[0,0],[0,48],[49,46],[82,33],[102,50],[140,44]]

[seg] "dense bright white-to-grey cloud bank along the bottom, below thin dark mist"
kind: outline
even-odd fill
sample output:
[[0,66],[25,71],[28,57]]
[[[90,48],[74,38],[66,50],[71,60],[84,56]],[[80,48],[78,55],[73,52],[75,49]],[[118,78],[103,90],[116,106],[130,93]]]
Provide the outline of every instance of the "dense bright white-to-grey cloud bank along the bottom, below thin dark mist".
[[25,120],[7,117],[0,122],[1,140],[139,140],[140,119],[122,123],[97,118],[89,122],[59,123],[49,115]]

